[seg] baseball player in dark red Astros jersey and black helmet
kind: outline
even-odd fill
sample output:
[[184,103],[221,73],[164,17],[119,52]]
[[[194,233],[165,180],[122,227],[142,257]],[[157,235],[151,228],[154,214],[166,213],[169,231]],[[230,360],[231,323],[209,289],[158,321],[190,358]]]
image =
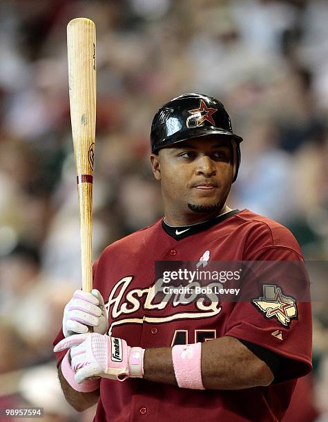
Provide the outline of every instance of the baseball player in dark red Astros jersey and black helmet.
[[302,263],[287,228],[226,203],[241,141],[206,95],[184,94],[155,114],[164,219],[104,250],[95,290],[75,292],[54,341],[66,399],[77,410],[97,403],[95,421],[280,421],[311,371],[311,305],[289,291],[307,280],[264,266],[267,283],[242,281],[248,300],[155,294],[155,261],[197,271],[215,261]]

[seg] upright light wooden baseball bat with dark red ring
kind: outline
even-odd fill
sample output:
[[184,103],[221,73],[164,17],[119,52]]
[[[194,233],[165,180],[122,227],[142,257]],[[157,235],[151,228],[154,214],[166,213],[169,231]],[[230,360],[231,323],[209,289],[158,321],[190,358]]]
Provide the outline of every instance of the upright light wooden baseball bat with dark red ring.
[[96,125],[96,33],[93,21],[77,18],[68,23],[67,51],[70,121],[79,199],[82,290],[90,292],[93,288],[92,212]]

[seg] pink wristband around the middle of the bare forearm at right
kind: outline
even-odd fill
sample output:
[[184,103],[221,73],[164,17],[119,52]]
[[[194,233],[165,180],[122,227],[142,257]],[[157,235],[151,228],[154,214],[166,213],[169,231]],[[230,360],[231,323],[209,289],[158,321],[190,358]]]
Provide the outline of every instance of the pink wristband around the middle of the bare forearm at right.
[[201,356],[202,343],[173,346],[173,368],[180,388],[205,390],[202,383]]

